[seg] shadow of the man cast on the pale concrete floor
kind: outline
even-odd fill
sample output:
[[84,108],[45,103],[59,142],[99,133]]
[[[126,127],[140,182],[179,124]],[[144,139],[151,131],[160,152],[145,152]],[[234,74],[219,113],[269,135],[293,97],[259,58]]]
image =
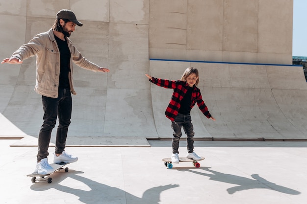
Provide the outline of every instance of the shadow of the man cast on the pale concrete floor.
[[[98,204],[98,203],[116,203],[116,204],[159,204],[160,194],[162,191],[179,187],[178,184],[160,185],[146,190],[143,193],[142,198],[134,196],[122,189],[111,187],[93,181],[91,179],[79,176],[83,172],[70,170],[68,173],[54,173],[52,174],[52,182],[47,183],[45,181],[39,181],[31,186],[32,190],[45,191],[51,188],[59,190],[61,192],[70,193],[79,197],[79,201],[85,204]],[[59,184],[66,178],[75,179],[84,183],[89,190],[81,190],[73,187],[68,187]]]

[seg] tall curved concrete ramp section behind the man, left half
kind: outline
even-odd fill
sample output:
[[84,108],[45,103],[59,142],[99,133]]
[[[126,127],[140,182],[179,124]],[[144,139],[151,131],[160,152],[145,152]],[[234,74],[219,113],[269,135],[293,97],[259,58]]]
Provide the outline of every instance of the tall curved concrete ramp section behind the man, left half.
[[[157,133],[150,85],[144,76],[149,71],[148,4],[5,2],[0,7],[1,60],[34,35],[49,30],[58,10],[70,8],[83,23],[70,39],[84,57],[111,70],[95,73],[74,67],[77,95],[73,96],[67,145],[149,146],[146,137],[157,137]],[[136,9],[133,15],[122,10],[126,3],[130,10]],[[33,137],[37,138],[43,122],[41,96],[33,91],[35,71],[34,57],[22,65],[0,65],[0,137],[29,136],[24,141],[30,142],[21,144],[30,146],[37,144]]]

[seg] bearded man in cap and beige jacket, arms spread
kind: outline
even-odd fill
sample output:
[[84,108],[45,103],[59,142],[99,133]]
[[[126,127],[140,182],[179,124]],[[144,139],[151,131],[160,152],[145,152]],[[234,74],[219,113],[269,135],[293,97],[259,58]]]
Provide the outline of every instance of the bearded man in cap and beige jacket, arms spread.
[[72,113],[71,93],[73,86],[73,62],[92,71],[109,72],[85,59],[72,44],[69,37],[76,25],[82,26],[71,10],[62,9],[56,14],[52,28],[36,35],[29,43],[22,45],[10,58],[1,64],[22,64],[23,60],[36,56],[35,91],[42,95],[44,122],[38,135],[38,153],[35,172],[50,174],[53,168],[48,163],[48,148],[51,131],[58,117],[54,163],[75,162],[77,157],[64,151]]

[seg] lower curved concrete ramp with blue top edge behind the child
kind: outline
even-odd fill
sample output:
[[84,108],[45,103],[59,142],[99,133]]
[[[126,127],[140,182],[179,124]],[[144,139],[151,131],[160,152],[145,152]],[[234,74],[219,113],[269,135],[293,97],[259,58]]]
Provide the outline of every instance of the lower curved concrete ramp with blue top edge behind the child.
[[[212,139],[307,139],[307,85],[295,66],[152,60],[151,75],[178,80],[196,67],[205,104],[216,121],[192,109],[195,137]],[[164,111],[172,90],[151,85],[159,136],[172,136]]]

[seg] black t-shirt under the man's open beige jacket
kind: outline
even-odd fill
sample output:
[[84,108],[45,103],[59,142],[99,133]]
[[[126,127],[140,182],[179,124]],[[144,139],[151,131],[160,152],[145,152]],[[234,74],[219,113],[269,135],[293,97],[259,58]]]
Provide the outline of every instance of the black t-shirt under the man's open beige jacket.
[[70,71],[70,57],[71,57],[70,50],[68,48],[66,41],[62,41],[56,36],[54,37],[57,46],[59,47],[60,59],[61,59],[59,87],[69,88],[68,72]]

